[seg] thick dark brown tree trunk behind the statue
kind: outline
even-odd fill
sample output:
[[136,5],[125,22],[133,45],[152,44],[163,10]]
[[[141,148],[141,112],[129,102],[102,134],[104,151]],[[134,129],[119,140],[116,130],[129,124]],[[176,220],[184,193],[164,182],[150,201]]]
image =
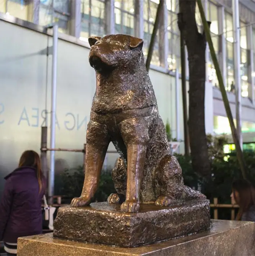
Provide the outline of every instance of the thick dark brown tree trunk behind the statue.
[[206,36],[198,32],[195,19],[195,0],[180,0],[178,15],[188,50],[189,61],[189,137],[192,167],[203,177],[211,177],[208,147],[205,132],[204,96],[206,76]]

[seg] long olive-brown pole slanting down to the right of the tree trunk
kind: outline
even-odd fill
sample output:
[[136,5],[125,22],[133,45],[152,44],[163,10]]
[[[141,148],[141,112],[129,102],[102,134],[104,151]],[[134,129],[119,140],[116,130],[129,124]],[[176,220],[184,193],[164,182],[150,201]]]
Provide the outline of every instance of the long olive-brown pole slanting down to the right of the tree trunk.
[[213,47],[213,44],[212,44],[210,29],[209,29],[208,23],[206,21],[206,17],[205,17],[205,14],[204,14],[204,8],[203,8],[201,0],[197,0],[197,3],[198,3],[199,12],[200,12],[203,27],[204,27],[204,33],[206,35],[206,40],[208,41],[209,49],[210,49],[210,52],[211,52],[212,62],[214,64],[214,68],[216,70],[217,78],[218,78],[218,81],[219,81],[219,88],[221,89],[222,100],[224,102],[224,106],[225,106],[225,109],[226,109],[227,118],[229,119],[229,124],[230,124],[231,132],[232,132],[232,137],[233,137],[233,140],[234,140],[234,143],[235,143],[237,159],[238,159],[238,162],[239,162],[239,165],[240,165],[242,176],[243,176],[243,178],[246,178],[246,166],[245,166],[244,155],[243,155],[242,149],[240,147],[239,139],[238,139],[238,136],[237,136],[237,130],[235,129],[235,124],[234,124],[232,112],[231,112],[231,109],[230,109],[229,100],[227,98],[227,93],[226,93],[226,89],[225,89],[225,86],[224,86],[224,82],[223,82],[223,78],[222,78],[222,74],[221,74],[221,69],[219,67],[219,62],[217,60],[217,56],[216,56],[216,53],[215,53],[215,50],[214,50],[214,47]]

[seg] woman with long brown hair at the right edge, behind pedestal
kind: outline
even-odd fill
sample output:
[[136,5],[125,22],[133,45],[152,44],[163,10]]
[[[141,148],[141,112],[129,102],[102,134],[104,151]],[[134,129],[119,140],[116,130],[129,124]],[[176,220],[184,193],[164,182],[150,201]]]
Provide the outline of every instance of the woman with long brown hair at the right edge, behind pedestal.
[[255,188],[248,180],[232,183],[231,198],[239,205],[236,220],[255,221]]

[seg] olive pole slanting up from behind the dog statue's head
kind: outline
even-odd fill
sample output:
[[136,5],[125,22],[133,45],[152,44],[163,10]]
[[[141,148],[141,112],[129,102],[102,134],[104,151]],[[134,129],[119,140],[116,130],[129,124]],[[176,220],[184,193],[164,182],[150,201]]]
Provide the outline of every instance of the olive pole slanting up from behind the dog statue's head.
[[164,7],[164,0],[160,0],[158,8],[157,8],[157,14],[156,14],[155,23],[154,23],[154,26],[153,26],[152,35],[151,35],[151,38],[150,38],[150,45],[149,45],[148,55],[147,55],[146,64],[145,64],[146,69],[147,69],[148,72],[149,72],[149,69],[150,69],[150,61],[151,61],[151,58],[152,58],[155,38],[156,38],[157,31],[158,31],[158,28],[159,28],[159,21],[160,21],[160,18],[162,18],[161,14],[163,13],[162,12],[163,7]]

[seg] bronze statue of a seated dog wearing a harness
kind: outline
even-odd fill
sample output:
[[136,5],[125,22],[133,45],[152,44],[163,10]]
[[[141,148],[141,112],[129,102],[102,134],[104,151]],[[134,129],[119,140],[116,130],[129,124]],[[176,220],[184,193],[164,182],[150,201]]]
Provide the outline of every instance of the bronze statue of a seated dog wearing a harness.
[[93,198],[110,142],[121,157],[112,172],[125,212],[140,203],[168,206],[181,200],[205,198],[183,184],[181,167],[171,155],[165,126],[157,107],[142,52],[143,40],[129,35],[90,37],[90,65],[96,71],[96,92],[87,128],[85,179],[82,194],[71,206]]

